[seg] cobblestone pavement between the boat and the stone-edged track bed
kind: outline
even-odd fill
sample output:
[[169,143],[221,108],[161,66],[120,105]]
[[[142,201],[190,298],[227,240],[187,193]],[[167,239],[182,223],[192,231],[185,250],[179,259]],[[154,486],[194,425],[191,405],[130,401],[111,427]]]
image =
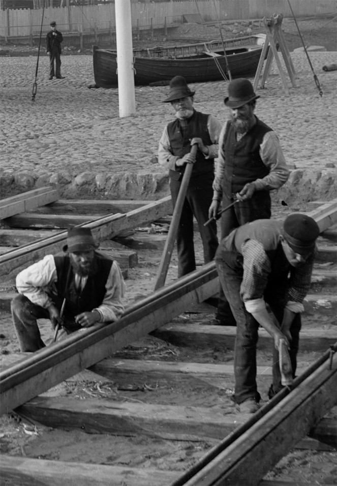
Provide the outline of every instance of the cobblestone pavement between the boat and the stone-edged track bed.
[[[291,53],[297,88],[284,92],[272,65],[264,90],[258,90],[256,115],[280,137],[290,168],[324,169],[336,162],[336,52],[310,52],[314,73],[304,53]],[[168,87],[136,87],[136,112],[119,118],[117,89],[88,89],[94,83],[91,55],[62,57],[63,80],[48,79],[48,58],[40,57],[36,99],[32,101],[36,57],[0,59],[1,175],[62,174],[68,180],[89,172],[163,174],[155,157],[172,108],[163,103]],[[284,68],[285,69],[285,68]],[[253,81],[253,78],[251,78]],[[194,106],[224,122],[227,82],[190,85]],[[330,169],[331,170],[331,169]]]

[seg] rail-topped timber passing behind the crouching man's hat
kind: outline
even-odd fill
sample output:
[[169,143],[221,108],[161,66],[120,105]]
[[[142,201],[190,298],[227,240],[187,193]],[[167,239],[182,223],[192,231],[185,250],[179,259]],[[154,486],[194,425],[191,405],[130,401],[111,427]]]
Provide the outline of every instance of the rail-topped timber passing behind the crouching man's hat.
[[[142,223],[156,221],[161,216],[165,216],[171,206],[171,196],[167,196],[127,214],[106,216],[84,226],[91,228],[96,241],[102,241],[137,227],[140,221]],[[66,239],[67,232],[60,232],[51,238],[26,245],[11,253],[0,255],[0,273],[3,279],[13,278],[27,263],[30,265],[47,254],[60,251]]]

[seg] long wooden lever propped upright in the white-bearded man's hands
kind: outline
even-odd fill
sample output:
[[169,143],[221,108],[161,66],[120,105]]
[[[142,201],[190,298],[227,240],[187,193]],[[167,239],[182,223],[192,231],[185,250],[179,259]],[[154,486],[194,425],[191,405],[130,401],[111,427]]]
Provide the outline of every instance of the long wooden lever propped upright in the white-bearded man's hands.
[[[194,144],[191,149],[191,154],[196,155],[198,149],[198,145]],[[159,270],[158,270],[158,275],[157,275],[157,281],[155,284],[155,290],[160,289],[161,287],[164,287],[165,284],[165,279],[168,271],[168,266],[171,260],[172,256],[172,250],[174,246],[174,242],[177,236],[177,231],[178,231],[178,225],[180,221],[180,215],[182,211],[182,206],[185,201],[185,196],[187,192],[187,188],[190,182],[191,174],[192,174],[192,169],[193,169],[193,164],[188,163],[186,164],[185,172],[182,177],[177,201],[174,206],[174,211],[172,215],[172,221],[169,227],[169,232],[167,235],[167,239],[165,242],[165,247],[163,250],[162,254],[162,259],[159,265]]]

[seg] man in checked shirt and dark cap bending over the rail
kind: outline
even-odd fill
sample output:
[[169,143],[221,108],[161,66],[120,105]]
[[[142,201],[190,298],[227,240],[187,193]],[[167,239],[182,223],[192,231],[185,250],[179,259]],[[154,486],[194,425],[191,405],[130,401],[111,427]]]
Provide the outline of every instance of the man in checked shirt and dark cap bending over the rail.
[[284,223],[258,219],[243,224],[219,245],[216,266],[236,320],[233,398],[241,413],[259,409],[261,397],[256,385],[259,326],[271,335],[274,343],[269,398],[282,389],[279,366],[282,339],[289,347],[295,377],[302,302],[310,287],[319,233],[313,218],[293,213]]

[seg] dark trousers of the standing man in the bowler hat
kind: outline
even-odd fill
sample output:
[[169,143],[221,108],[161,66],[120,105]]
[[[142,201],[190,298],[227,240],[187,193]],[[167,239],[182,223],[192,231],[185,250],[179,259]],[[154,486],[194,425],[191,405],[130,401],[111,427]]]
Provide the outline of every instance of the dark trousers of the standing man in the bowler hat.
[[[226,194],[223,194],[222,207],[226,208],[234,201]],[[258,191],[253,194],[249,201],[238,202],[221,216],[221,240],[228,236],[234,228],[242,224],[250,223],[256,219],[270,219],[271,201],[270,194],[267,191]],[[216,318],[224,321],[228,326],[235,326],[235,320],[227,302],[225,294],[220,285],[219,300]]]

